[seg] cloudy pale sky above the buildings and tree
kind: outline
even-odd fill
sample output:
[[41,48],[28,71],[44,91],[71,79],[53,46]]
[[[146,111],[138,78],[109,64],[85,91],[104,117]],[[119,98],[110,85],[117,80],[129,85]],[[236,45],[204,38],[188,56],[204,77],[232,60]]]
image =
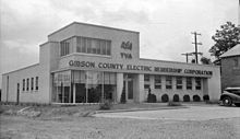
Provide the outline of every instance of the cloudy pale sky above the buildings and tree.
[[[0,0],[1,74],[39,61],[47,35],[76,21],[140,32],[140,57],[185,62],[191,32],[211,58],[220,25],[238,24],[238,0]],[[213,59],[213,58],[212,58]]]

